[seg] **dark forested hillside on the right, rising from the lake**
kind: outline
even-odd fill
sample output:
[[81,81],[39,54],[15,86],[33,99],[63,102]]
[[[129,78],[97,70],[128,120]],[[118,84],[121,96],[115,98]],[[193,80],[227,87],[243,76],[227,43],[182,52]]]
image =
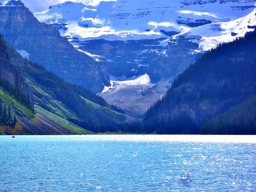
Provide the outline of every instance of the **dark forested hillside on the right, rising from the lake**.
[[[180,74],[166,96],[146,112],[144,130],[197,134],[201,129],[204,134],[255,134],[252,122],[256,118],[250,115],[254,107],[249,108],[255,103],[243,102],[255,93],[256,33],[251,32],[210,50]],[[236,118],[226,119],[227,114]],[[241,131],[233,125],[249,128]]]

